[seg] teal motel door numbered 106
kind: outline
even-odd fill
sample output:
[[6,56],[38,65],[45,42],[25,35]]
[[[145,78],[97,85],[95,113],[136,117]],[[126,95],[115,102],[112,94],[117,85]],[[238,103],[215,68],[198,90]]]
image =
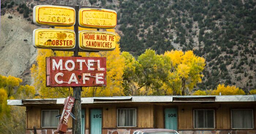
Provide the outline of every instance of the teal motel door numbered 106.
[[176,108],[165,109],[165,129],[178,130],[178,114]]

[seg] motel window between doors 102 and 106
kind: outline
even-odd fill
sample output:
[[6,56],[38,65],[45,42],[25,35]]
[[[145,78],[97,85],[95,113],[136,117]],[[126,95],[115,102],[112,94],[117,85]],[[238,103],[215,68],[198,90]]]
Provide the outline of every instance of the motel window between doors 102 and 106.
[[117,109],[118,127],[136,127],[136,109]]

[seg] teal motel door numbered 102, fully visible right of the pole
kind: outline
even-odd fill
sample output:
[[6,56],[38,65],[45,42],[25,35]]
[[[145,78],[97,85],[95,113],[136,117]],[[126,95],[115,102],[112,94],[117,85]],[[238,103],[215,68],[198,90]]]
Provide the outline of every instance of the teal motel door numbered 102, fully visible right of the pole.
[[102,109],[90,110],[90,134],[102,134]]

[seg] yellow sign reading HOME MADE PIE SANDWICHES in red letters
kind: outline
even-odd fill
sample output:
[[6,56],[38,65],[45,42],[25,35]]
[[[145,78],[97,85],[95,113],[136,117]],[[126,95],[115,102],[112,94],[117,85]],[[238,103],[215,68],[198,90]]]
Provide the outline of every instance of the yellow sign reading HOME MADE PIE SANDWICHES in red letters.
[[80,31],[79,47],[83,50],[110,51],[116,48],[116,35],[112,32]]

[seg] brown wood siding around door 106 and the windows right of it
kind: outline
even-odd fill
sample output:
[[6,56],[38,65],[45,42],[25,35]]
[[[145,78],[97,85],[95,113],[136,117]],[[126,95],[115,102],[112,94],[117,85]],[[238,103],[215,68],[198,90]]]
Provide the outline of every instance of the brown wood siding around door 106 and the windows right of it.
[[256,103],[238,102],[237,103],[185,103],[185,104],[160,104],[155,106],[155,127],[164,128],[165,107],[178,107],[178,130],[194,130],[195,109],[214,109],[215,110],[215,129],[231,129],[231,109],[253,109],[254,129],[256,128]]

